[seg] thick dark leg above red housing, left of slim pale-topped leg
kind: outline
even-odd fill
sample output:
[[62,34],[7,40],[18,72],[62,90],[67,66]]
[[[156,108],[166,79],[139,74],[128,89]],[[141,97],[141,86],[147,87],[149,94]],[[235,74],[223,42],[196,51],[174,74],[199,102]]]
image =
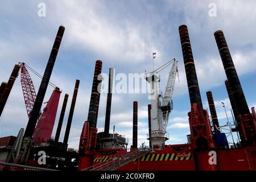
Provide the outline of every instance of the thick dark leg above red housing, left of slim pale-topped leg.
[[102,61],[97,60],[94,76],[93,76],[93,85],[92,85],[92,93],[90,95],[90,105],[88,111],[88,119],[87,121],[90,124],[90,127],[96,128],[97,126],[97,118],[98,118],[98,106],[100,105],[100,96],[101,96],[101,68]]

